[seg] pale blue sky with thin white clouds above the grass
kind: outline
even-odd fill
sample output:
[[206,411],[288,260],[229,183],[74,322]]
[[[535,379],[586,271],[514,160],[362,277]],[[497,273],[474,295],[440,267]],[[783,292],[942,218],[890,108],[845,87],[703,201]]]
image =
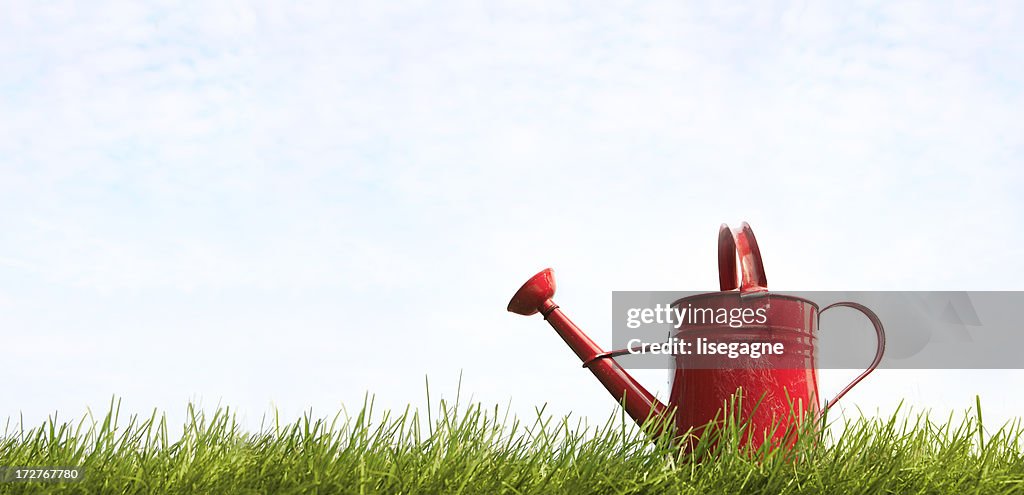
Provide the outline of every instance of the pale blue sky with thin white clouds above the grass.
[[[540,317],[716,290],[1022,290],[1019,2],[0,3],[0,421],[462,397],[603,421]],[[898,331],[891,329],[890,331]],[[850,371],[823,371],[831,396]],[[664,397],[666,372],[639,377]],[[847,413],[1020,415],[1020,371]]]

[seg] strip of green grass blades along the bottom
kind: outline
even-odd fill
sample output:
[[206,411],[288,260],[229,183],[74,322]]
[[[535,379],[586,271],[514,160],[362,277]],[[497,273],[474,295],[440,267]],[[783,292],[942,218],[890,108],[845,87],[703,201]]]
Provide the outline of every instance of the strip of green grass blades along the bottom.
[[[691,453],[651,442],[614,414],[588,428],[543,408],[520,421],[500,408],[444,403],[353,416],[308,415],[245,432],[228,409],[188,408],[122,421],[49,420],[0,437],[0,466],[82,465],[75,483],[4,483],[2,493],[1024,493],[1022,428],[963,418],[860,418],[803,435],[786,451],[743,452],[738,424]],[[900,419],[902,418],[902,419]]]

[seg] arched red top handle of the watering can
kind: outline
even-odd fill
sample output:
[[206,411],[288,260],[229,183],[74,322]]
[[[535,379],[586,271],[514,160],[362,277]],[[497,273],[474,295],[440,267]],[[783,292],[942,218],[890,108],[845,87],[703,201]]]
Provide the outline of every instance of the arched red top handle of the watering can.
[[[738,259],[739,274],[736,273]],[[737,277],[739,275],[740,277]],[[738,280],[737,280],[738,279]],[[761,262],[761,249],[750,223],[738,230],[722,223],[718,230],[718,280],[723,291],[739,287],[741,294],[768,291],[768,278]]]

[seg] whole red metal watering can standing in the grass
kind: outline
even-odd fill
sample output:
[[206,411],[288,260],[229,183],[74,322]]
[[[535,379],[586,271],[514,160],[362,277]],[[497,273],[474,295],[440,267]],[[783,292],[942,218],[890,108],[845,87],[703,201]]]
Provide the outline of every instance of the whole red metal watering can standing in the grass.
[[[690,342],[703,338],[719,345],[771,341],[783,344],[785,352],[757,359],[677,353],[669,405],[655,399],[615,362],[615,356],[628,354],[629,349],[602,350],[551,300],[555,294],[551,269],[529,279],[509,301],[508,311],[525,316],[543,315],[584,366],[612,397],[623,401],[626,412],[641,426],[652,418],[664,419],[672,415],[676,430],[680,434],[690,431],[692,441],[698,439],[708,425],[721,421],[723,408],[731,403],[734,408],[731,413],[738,413],[748,425],[752,447],[758,448],[765,442],[770,442],[772,447],[792,445],[796,441],[791,434],[796,422],[809,413],[818,415],[834,406],[878,367],[885,352],[882,322],[873,312],[856,302],[837,302],[819,310],[808,299],[769,292],[761,252],[746,222],[736,231],[723,224],[719,230],[718,247],[721,291],[684,297],[673,302],[673,307],[750,311],[765,318],[738,327],[715,322],[680,325],[675,337]],[[814,342],[819,316],[837,306],[859,311],[870,320],[878,335],[878,350],[870,366],[821,409]],[[735,401],[737,394],[742,398],[739,401]],[[653,432],[658,435],[660,431]]]

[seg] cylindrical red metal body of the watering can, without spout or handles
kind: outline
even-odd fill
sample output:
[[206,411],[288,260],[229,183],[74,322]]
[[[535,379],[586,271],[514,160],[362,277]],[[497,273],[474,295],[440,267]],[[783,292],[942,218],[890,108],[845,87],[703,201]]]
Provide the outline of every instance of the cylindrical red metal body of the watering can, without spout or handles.
[[697,437],[711,421],[721,421],[723,405],[734,395],[738,404],[728,411],[750,425],[753,447],[768,441],[772,446],[792,445],[797,438],[791,426],[808,412],[818,412],[818,379],[814,368],[814,335],[818,307],[813,302],[791,296],[750,299],[738,291],[699,294],[680,299],[674,305],[699,307],[764,308],[767,322],[738,329],[723,325],[687,325],[675,336],[695,341],[697,337],[716,342],[780,342],[785,353],[753,359],[713,356],[676,356],[669,403],[678,406],[679,431],[694,428]]

